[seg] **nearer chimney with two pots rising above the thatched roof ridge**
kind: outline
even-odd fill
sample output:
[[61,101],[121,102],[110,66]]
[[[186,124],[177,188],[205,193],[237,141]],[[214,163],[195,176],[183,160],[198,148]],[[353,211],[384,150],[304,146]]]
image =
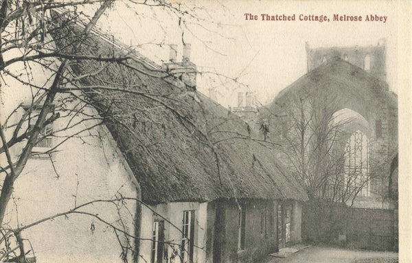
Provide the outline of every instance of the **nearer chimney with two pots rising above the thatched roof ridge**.
[[185,86],[196,90],[196,65],[190,61],[191,45],[183,45],[182,62],[177,62],[177,45],[170,45],[169,62],[164,63],[165,71],[180,79]]

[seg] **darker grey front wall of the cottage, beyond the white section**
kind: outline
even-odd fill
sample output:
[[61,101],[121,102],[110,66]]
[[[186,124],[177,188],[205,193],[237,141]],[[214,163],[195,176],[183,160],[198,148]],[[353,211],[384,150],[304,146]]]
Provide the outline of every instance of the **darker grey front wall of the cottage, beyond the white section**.
[[[262,232],[262,213],[266,208],[266,231]],[[238,249],[238,204],[234,201],[214,201],[207,207],[207,262],[251,262],[277,249],[275,205],[272,201],[248,201],[244,249]],[[265,227],[265,226],[264,226]],[[211,239],[213,238],[213,242]]]

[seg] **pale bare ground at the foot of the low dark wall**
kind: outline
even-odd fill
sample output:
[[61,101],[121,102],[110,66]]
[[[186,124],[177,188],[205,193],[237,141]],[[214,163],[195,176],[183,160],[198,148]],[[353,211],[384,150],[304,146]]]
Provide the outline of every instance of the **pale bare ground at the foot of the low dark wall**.
[[398,253],[312,246],[287,258],[269,256],[262,263],[397,263]]

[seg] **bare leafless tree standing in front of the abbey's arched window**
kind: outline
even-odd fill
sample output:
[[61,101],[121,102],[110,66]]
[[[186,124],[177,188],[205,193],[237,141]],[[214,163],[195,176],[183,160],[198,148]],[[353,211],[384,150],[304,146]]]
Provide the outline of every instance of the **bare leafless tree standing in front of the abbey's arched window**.
[[[348,139],[354,116],[341,118],[338,95],[321,90],[304,90],[290,96],[282,114],[269,113],[272,129],[293,175],[306,188],[310,199],[353,201],[371,182],[369,160],[353,163],[356,154]],[[365,146],[368,142],[364,142]],[[351,159],[352,156],[352,159]],[[350,162],[352,161],[352,167]]]

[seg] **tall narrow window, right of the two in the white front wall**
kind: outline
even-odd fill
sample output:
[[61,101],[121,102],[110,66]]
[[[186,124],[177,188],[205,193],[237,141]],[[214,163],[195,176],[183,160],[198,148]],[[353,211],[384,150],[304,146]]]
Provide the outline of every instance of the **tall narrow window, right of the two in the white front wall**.
[[181,260],[183,263],[193,262],[194,248],[194,211],[183,211],[183,235]]

